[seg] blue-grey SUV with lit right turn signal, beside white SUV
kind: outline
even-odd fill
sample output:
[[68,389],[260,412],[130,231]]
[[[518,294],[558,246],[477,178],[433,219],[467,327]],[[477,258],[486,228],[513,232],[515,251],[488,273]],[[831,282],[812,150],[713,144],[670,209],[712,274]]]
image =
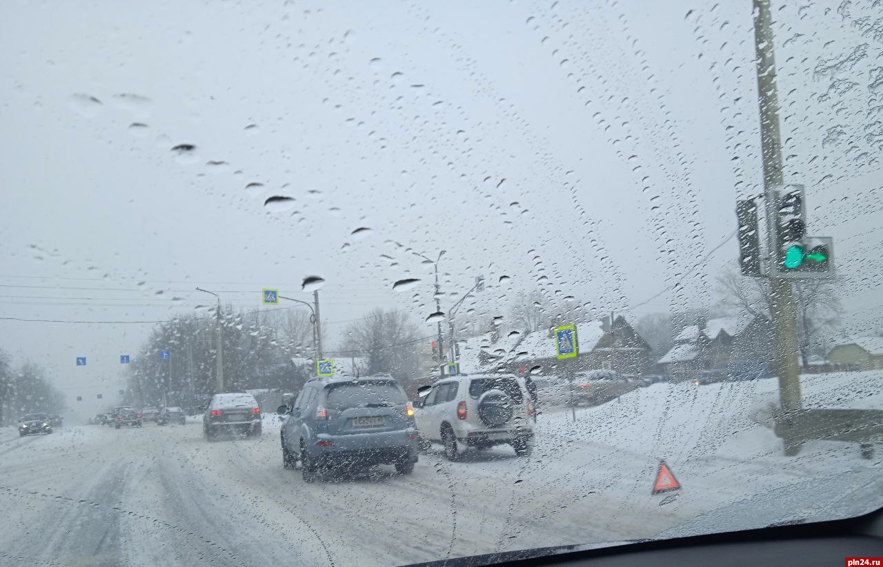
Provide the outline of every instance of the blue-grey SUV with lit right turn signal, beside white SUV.
[[283,466],[299,461],[304,481],[346,468],[395,465],[410,474],[417,462],[414,409],[392,377],[313,379],[285,416]]

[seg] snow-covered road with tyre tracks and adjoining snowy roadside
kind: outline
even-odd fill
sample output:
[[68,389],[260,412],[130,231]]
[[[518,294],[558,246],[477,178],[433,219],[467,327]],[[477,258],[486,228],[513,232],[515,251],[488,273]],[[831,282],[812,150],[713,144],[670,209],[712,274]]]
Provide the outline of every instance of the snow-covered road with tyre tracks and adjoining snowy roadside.
[[[839,392],[826,405],[881,407],[879,373],[843,377],[849,390],[831,377],[804,377],[808,405]],[[654,384],[577,409],[576,422],[541,414],[529,459],[498,448],[450,463],[434,448],[411,475],[381,467],[314,484],[283,469],[275,416],[258,439],[212,444],[198,422],[21,438],[6,428],[0,563],[400,564],[879,505],[879,454],[816,442],[784,457],[762,422],[774,399],[774,380]],[[651,495],[660,459],[682,490]]]

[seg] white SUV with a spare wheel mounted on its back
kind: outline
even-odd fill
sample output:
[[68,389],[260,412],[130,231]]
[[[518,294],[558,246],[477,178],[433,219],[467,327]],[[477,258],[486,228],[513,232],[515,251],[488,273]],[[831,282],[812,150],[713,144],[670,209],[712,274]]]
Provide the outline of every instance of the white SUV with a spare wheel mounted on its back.
[[525,383],[508,375],[471,375],[439,380],[415,403],[421,444],[444,445],[457,460],[467,447],[509,444],[518,456],[531,453],[533,404]]

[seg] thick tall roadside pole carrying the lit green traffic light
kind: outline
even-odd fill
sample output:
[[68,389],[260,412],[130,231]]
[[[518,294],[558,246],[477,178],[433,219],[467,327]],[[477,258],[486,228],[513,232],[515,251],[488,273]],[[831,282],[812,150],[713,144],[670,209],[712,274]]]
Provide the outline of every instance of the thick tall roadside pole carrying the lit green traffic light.
[[[779,102],[776,94],[776,72],[773,55],[773,29],[769,0],[754,2],[754,45],[757,56],[758,97],[760,103],[760,143],[764,167],[764,209],[766,216],[767,252],[770,255],[767,277],[772,295],[771,310],[775,331],[775,369],[779,377],[781,410],[791,414],[801,407],[800,365],[797,360],[797,327],[794,295],[790,280],[778,276],[775,261],[775,190],[782,184],[781,139],[779,135]],[[785,440],[786,454],[798,448]]]

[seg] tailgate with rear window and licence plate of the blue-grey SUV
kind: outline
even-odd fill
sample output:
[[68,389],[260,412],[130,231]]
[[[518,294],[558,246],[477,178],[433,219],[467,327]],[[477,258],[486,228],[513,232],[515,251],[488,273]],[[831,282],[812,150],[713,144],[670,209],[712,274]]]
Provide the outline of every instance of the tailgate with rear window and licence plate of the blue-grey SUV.
[[321,402],[330,435],[407,429],[406,404],[404,391],[391,380],[328,384]]

